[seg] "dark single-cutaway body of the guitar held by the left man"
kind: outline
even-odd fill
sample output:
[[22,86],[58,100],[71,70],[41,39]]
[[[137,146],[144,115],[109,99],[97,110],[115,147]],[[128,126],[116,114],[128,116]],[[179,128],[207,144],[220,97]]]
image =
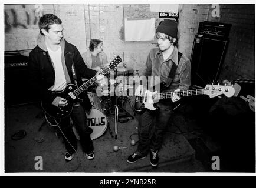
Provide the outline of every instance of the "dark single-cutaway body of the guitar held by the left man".
[[71,92],[74,92],[78,87],[74,84],[68,84],[65,89],[61,92],[54,92],[58,93],[57,96],[60,96],[61,98],[67,99],[67,105],[66,106],[54,106],[51,103],[42,102],[42,108],[45,110],[45,112],[48,113],[48,115],[55,117],[57,119],[63,119],[70,115],[70,113],[73,110],[73,105],[76,103],[80,103],[83,101],[83,99],[80,99],[78,97],[74,97],[73,95],[70,96]]

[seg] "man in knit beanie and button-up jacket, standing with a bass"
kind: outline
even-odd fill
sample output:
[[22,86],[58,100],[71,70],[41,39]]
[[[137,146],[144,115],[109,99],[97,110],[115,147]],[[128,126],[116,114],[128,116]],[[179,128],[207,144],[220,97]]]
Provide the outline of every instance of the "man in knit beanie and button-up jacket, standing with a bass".
[[[156,107],[160,109],[152,113],[147,108],[139,115],[137,151],[127,158],[128,163],[146,158],[150,153],[150,164],[156,167],[159,163],[159,149],[162,146],[163,134],[172,115],[175,102],[180,99],[180,90],[188,90],[191,84],[191,63],[178,52],[178,24],[175,20],[165,19],[156,29],[157,47],[152,48],[147,56],[146,66],[140,76],[160,77],[161,92],[176,92],[171,99],[160,99]],[[136,96],[143,96],[146,86],[139,85]]]

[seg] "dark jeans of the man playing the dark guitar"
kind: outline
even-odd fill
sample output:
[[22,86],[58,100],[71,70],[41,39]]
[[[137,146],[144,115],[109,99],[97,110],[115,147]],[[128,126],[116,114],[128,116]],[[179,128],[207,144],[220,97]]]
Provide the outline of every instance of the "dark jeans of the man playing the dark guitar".
[[[93,141],[90,137],[90,134],[93,132],[93,130],[87,126],[86,113],[84,112],[84,108],[81,105],[74,106],[70,117],[78,131],[83,152],[93,152]],[[67,151],[70,153],[74,153],[74,149],[77,149],[77,139],[70,125],[70,117],[62,119],[60,127],[65,137],[67,137],[68,139],[67,141],[67,139],[65,139],[65,137],[63,136]],[[72,145],[72,147],[70,146],[70,144]]]

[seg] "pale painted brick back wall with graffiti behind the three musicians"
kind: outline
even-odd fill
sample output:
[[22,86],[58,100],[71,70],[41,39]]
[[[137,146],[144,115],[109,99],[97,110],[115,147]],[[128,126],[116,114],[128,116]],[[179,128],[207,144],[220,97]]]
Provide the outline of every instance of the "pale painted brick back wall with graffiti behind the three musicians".
[[[23,8],[25,6],[25,8]],[[80,53],[87,50],[90,39],[101,39],[109,61],[119,55],[133,69],[145,66],[152,43],[123,42],[122,4],[43,4],[42,14],[52,13],[61,18],[65,38],[77,46]],[[133,6],[133,5],[129,5]],[[36,45],[38,20],[35,21],[37,5],[5,5],[5,50],[32,49]],[[193,37],[200,21],[208,16],[209,5],[179,5],[179,50],[188,57],[191,55]],[[11,11],[15,11],[16,22]],[[28,23],[28,16],[31,22]],[[32,22],[35,21],[35,22]],[[9,25],[8,25],[9,23]]]

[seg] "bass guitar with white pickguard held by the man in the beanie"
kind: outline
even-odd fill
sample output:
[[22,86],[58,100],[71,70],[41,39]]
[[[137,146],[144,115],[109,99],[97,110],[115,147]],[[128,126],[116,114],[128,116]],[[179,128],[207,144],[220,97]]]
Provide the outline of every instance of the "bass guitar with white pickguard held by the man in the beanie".
[[183,96],[194,96],[194,95],[208,95],[210,98],[224,94],[228,98],[235,94],[235,89],[231,86],[221,86],[221,85],[206,85],[204,89],[186,90],[179,92],[165,92],[157,93],[146,90],[143,96],[136,96],[135,98],[135,111],[137,113],[142,113],[145,108],[149,110],[156,110],[154,103],[158,102],[160,99],[172,98],[173,94],[179,97]]

